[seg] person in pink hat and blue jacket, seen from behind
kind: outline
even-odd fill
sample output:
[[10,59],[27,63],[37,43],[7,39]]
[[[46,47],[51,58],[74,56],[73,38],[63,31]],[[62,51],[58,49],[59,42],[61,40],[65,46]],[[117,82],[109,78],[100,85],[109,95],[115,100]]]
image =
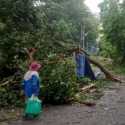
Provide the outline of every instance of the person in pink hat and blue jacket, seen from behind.
[[23,90],[26,98],[32,95],[38,96],[40,91],[40,78],[38,71],[41,65],[37,62],[32,62],[29,66],[29,71],[26,72],[23,79]]

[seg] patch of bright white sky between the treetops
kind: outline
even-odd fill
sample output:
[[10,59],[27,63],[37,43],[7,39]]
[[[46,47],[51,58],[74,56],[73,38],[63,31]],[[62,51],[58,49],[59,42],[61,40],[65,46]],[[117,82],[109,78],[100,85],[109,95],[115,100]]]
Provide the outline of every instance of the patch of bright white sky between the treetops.
[[98,7],[98,4],[101,2],[102,0],[85,0],[85,4],[90,8],[90,10],[94,13],[94,14],[98,14],[100,12],[100,9]]

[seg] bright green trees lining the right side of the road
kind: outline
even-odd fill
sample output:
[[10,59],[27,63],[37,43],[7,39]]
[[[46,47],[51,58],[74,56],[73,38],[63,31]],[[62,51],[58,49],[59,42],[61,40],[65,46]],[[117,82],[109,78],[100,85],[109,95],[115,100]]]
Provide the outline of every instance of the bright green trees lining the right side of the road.
[[[102,49],[106,56],[125,61],[125,0],[104,0],[100,4],[103,29]],[[105,49],[104,49],[105,48]]]

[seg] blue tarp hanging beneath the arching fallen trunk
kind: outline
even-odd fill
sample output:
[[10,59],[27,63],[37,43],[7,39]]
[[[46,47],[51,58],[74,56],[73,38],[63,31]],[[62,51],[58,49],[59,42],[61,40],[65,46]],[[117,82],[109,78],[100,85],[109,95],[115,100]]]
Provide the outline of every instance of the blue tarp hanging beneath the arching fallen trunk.
[[95,80],[95,75],[91,69],[90,63],[86,56],[82,53],[77,53],[75,55],[76,60],[76,71],[77,77],[89,77],[91,80]]

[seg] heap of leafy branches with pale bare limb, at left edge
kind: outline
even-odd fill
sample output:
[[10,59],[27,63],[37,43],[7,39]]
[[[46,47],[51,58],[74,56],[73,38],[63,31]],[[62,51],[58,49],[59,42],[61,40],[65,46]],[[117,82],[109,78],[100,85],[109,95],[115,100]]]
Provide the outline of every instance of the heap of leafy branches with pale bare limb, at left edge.
[[0,81],[0,107],[22,106],[22,76],[13,75]]

